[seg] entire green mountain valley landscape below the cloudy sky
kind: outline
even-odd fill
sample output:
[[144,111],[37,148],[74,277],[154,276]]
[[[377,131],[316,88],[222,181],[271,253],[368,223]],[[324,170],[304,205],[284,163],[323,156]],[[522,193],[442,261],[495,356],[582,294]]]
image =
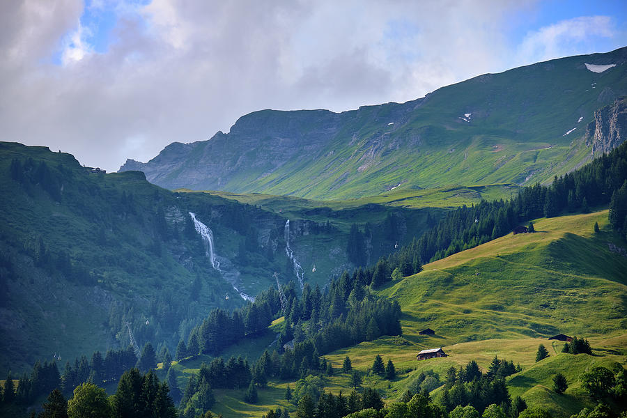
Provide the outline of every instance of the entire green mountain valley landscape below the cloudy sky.
[[0,142],[0,415],[56,387],[181,418],[624,415],[626,70],[256,111],[118,173]]

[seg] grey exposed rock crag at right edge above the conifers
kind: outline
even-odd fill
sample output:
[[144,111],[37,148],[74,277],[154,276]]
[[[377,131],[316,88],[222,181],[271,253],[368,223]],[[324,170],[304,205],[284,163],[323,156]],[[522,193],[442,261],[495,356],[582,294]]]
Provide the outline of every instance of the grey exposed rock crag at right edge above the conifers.
[[586,145],[592,146],[596,157],[622,144],[627,137],[627,97],[617,98],[594,111],[594,121],[586,127]]

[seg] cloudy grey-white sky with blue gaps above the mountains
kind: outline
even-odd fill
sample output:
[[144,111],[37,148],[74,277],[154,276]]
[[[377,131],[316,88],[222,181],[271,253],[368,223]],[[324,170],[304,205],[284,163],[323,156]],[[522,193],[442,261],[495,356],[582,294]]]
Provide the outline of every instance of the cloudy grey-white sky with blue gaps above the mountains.
[[1,1],[0,140],[115,171],[258,109],[405,102],[626,45],[622,0]]

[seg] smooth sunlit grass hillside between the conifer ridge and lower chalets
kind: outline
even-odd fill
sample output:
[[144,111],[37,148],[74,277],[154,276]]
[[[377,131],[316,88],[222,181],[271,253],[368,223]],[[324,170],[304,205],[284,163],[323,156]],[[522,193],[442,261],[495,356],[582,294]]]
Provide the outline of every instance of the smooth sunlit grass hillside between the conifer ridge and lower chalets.
[[627,258],[610,251],[607,211],[539,219],[536,233],[506,235],[435,261],[382,291],[403,307],[408,338],[431,327],[447,341],[627,328]]

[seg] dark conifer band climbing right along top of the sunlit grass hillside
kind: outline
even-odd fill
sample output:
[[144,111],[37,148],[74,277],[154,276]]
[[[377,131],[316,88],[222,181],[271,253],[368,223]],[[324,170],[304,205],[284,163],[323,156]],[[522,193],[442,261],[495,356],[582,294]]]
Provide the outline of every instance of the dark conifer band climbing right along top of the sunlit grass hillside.
[[536,184],[520,189],[508,201],[481,201],[457,208],[385,261],[401,271],[406,268],[417,272],[415,267],[409,268],[416,261],[435,261],[476,247],[536,217],[555,217],[564,211],[587,212],[590,206],[610,205],[610,224],[627,232],[626,182],[627,143],[572,173],[555,177],[550,186]]

